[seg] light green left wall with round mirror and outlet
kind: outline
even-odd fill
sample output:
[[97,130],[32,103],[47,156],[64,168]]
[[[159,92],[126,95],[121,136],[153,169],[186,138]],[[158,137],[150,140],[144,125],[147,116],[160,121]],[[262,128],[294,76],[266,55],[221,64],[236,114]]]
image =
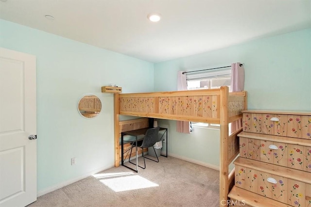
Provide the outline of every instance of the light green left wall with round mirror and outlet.
[[[36,56],[38,191],[114,166],[113,95],[101,86],[154,91],[154,64],[5,20],[0,32],[2,48]],[[77,111],[85,94],[102,101],[94,119]]]

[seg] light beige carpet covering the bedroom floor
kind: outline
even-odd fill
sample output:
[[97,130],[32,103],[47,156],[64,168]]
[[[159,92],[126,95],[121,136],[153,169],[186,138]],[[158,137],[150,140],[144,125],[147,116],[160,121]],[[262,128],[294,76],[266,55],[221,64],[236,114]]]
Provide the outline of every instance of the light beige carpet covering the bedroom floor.
[[219,171],[173,157],[159,160],[146,159],[146,169],[138,173],[110,168],[42,195],[28,207],[219,207]]

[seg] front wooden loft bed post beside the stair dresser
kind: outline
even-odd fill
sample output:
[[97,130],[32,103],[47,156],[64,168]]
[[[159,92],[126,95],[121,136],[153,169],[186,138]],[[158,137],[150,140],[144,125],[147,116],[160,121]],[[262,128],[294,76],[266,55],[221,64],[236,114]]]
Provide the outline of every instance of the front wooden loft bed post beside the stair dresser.
[[229,163],[228,163],[228,96],[229,88],[222,86],[220,88],[220,186],[219,186],[219,202],[220,206],[227,206],[227,197],[229,189]]

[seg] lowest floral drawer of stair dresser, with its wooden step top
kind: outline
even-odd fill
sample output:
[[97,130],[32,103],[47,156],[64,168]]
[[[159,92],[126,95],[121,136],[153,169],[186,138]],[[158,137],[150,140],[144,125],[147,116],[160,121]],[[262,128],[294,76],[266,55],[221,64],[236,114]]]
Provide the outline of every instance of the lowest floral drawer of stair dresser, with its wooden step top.
[[236,187],[291,206],[311,206],[309,172],[244,158],[234,164]]

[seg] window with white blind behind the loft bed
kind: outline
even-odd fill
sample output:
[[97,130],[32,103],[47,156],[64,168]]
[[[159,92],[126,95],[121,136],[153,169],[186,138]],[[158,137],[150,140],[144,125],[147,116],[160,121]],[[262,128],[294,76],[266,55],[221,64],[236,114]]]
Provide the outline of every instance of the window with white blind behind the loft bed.
[[[215,69],[201,73],[187,74],[188,90],[213,89],[221,86],[231,88],[231,67],[230,69]],[[191,122],[192,127],[220,128],[217,124]]]

